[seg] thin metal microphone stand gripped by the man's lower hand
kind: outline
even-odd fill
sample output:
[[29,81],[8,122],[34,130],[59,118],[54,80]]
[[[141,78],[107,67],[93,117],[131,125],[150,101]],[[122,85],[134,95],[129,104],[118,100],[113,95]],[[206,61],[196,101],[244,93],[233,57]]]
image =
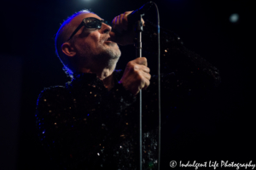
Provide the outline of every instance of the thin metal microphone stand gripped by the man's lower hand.
[[[143,15],[140,14],[137,20],[137,25],[135,28],[135,48],[136,48],[136,58],[142,57],[143,52]],[[142,90],[140,90],[140,170],[143,170],[143,95]]]

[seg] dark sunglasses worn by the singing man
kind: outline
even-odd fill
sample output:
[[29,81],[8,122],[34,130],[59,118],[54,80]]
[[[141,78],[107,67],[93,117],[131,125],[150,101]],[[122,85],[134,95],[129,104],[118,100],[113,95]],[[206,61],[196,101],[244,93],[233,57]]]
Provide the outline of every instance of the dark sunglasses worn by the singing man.
[[107,20],[99,20],[93,17],[90,18],[85,18],[82,20],[81,24],[75,31],[73,31],[73,34],[71,37],[67,39],[69,41],[78,31],[82,26],[85,26],[86,28],[96,28],[96,29],[101,29],[102,28],[102,23],[108,24]]

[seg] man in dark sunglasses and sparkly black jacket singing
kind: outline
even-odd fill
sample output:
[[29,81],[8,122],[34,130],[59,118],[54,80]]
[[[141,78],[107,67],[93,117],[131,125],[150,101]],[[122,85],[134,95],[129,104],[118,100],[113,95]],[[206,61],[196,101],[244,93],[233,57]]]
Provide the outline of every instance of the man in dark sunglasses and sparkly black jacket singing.
[[[45,88],[38,97],[36,117],[39,138],[60,169],[138,169],[141,89],[143,169],[157,167],[156,77],[151,78],[146,58],[131,60],[125,71],[114,70],[121,55],[117,44],[133,43],[128,14],[131,11],[115,17],[111,27],[82,10],[56,34],[56,54],[72,81]],[[155,50],[153,30],[146,22],[143,47],[148,55]],[[216,86],[219,77],[215,67],[184,48],[174,33],[166,31],[163,36],[163,72],[169,74],[162,75],[161,89],[167,115],[172,111],[165,107]],[[168,122],[165,116],[163,122]]]

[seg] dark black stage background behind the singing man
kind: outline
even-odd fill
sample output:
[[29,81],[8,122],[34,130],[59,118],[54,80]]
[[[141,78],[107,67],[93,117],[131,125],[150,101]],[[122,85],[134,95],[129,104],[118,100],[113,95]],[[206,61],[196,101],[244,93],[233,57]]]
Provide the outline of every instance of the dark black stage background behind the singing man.
[[[34,112],[38,94],[44,88],[63,85],[69,81],[61,70],[61,62],[55,56],[54,37],[60,23],[67,19],[67,16],[83,8],[91,8],[103,19],[112,21],[116,15],[140,8],[146,2],[148,1],[2,2],[0,7],[1,170],[51,167],[35,135]],[[163,156],[165,158],[162,162],[167,164],[167,161],[180,161],[183,156],[194,161],[200,154],[201,157],[206,156],[204,161],[225,160],[241,163],[255,161],[253,156],[255,153],[253,85],[255,27],[253,23],[256,14],[253,1],[252,3],[241,0],[154,2],[160,10],[160,26],[176,32],[183,39],[185,47],[215,65],[222,77],[217,94],[209,99],[207,104],[210,109],[214,108],[214,111],[210,111],[209,115],[207,112],[204,114],[206,117],[212,116],[215,120],[214,130],[208,133],[205,141],[201,140],[203,138],[200,135],[197,138],[183,133],[182,136],[185,135],[186,139],[189,139],[189,144],[186,144],[184,139],[182,140],[184,143],[173,145],[176,148],[173,154],[172,150],[164,150],[163,153],[169,155]],[[150,11],[151,13],[144,19],[155,21],[154,8]],[[230,15],[235,13],[239,14],[240,18],[238,22],[231,23]],[[131,53],[134,50],[132,46],[121,47],[121,50],[122,59],[117,69],[124,69],[126,63],[134,59],[134,54]],[[153,69],[155,67],[149,66]],[[193,114],[194,112],[191,111],[192,116]],[[170,139],[166,133],[162,138],[163,141]],[[196,144],[198,142],[199,144]],[[194,149],[186,149],[194,145]],[[177,153],[178,157],[175,156]]]

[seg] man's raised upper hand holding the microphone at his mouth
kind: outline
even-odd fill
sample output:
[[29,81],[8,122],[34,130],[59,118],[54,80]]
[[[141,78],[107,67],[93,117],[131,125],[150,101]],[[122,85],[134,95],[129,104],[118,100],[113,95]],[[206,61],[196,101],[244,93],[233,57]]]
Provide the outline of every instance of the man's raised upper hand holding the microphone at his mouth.
[[[127,16],[132,11],[126,11],[124,14],[120,14],[112,20],[112,31],[109,33],[112,42],[116,42],[119,45],[128,45],[134,43],[135,26],[128,26]],[[144,20],[143,25],[144,25]]]

